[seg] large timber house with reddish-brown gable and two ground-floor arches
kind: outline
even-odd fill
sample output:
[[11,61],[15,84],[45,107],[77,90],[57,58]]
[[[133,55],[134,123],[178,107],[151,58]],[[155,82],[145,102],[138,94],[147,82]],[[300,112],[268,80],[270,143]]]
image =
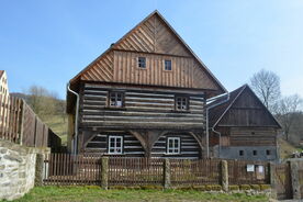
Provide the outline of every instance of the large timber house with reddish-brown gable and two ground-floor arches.
[[69,81],[69,150],[202,157],[206,99],[224,92],[155,11]]

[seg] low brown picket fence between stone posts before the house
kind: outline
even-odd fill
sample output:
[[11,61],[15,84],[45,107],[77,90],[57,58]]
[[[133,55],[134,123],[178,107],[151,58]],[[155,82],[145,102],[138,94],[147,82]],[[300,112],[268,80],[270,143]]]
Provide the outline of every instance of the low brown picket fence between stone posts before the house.
[[[199,184],[221,184],[222,183],[222,160],[218,159],[164,159],[164,158],[126,158],[110,157],[106,166],[102,170],[102,158],[98,155],[69,155],[50,154],[44,160],[44,184],[99,184],[102,176],[106,176],[109,186],[199,186]],[[168,164],[167,164],[168,162]],[[228,160],[228,164],[232,164]],[[269,183],[268,175],[265,179],[257,179],[257,175],[247,173],[244,165],[251,161],[234,162],[231,168],[229,179],[233,183]],[[258,162],[265,165],[267,162]],[[249,178],[240,178],[249,176]],[[167,177],[169,175],[169,177]]]

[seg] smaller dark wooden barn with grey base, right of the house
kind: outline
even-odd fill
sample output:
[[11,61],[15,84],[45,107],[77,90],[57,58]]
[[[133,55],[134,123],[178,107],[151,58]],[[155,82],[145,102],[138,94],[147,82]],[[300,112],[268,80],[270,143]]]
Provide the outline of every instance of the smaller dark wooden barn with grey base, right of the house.
[[281,126],[247,85],[207,108],[214,157],[277,160]]

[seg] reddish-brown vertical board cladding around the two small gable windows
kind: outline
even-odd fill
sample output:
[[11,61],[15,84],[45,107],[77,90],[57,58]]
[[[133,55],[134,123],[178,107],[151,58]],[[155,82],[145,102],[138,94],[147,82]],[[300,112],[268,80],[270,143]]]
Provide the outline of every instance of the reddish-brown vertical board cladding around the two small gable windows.
[[[146,58],[146,68],[138,67],[138,57]],[[165,59],[171,60],[171,70],[165,70]],[[124,83],[217,89],[192,57],[133,52],[114,52],[114,80]]]

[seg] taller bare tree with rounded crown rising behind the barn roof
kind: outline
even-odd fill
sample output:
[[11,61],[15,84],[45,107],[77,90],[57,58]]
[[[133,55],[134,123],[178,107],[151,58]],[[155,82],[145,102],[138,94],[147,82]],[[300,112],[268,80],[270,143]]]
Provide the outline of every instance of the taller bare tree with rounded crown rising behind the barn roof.
[[281,94],[279,76],[272,71],[261,69],[250,78],[250,87],[263,104],[270,111],[273,111]]

